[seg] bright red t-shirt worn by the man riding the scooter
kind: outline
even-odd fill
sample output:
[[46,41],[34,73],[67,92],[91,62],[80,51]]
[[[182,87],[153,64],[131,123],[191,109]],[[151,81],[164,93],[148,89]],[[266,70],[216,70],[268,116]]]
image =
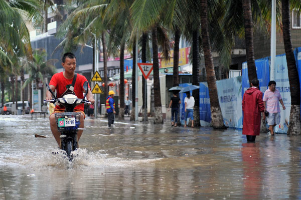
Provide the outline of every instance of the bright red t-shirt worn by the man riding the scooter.
[[[71,85],[72,85],[72,79],[66,79],[63,75],[63,72],[56,73],[52,76],[49,85],[53,85],[56,88],[57,91],[57,97],[59,98]],[[82,99],[84,97],[83,92],[83,85],[84,82],[87,81],[86,77],[83,75],[77,74],[76,81],[74,84],[74,92],[77,98]],[[88,85],[90,88],[90,85]],[[90,88],[91,89],[91,88]],[[56,105],[55,108],[62,109],[60,105]],[[76,106],[74,109],[80,109],[84,111],[84,104],[80,104]]]

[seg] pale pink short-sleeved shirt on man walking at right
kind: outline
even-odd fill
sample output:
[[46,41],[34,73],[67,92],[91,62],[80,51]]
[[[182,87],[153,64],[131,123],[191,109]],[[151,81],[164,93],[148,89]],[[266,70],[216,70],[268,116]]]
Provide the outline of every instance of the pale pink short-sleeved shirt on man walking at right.
[[275,91],[272,92],[270,89],[267,89],[263,96],[263,101],[266,102],[266,111],[270,113],[280,112],[279,100],[281,99],[282,97],[279,90],[275,89]]

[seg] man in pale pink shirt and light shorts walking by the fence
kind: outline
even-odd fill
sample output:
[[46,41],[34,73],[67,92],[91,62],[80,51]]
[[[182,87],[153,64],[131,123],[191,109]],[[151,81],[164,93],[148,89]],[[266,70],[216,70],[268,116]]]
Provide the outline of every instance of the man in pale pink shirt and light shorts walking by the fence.
[[[268,82],[268,89],[263,95],[264,102],[264,112],[268,112],[267,115],[267,125],[269,125],[268,130],[271,136],[274,136],[274,127],[276,124],[280,123],[280,107],[279,102],[282,105],[282,109],[285,110],[285,106],[282,101],[279,90],[276,89],[276,82]],[[265,119],[265,116],[263,117]]]

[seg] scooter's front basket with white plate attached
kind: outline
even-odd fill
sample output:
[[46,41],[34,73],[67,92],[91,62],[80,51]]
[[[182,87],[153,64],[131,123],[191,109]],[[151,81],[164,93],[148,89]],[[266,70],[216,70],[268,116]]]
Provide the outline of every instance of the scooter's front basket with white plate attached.
[[54,113],[58,130],[73,131],[80,125],[80,112]]

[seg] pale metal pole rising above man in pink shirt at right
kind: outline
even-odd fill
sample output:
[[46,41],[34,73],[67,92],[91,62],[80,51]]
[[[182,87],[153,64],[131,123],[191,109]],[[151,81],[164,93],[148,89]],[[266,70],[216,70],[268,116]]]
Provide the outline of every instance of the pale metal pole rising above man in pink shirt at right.
[[275,80],[275,59],[276,59],[276,0],[272,0],[271,72],[270,72],[270,80]]

